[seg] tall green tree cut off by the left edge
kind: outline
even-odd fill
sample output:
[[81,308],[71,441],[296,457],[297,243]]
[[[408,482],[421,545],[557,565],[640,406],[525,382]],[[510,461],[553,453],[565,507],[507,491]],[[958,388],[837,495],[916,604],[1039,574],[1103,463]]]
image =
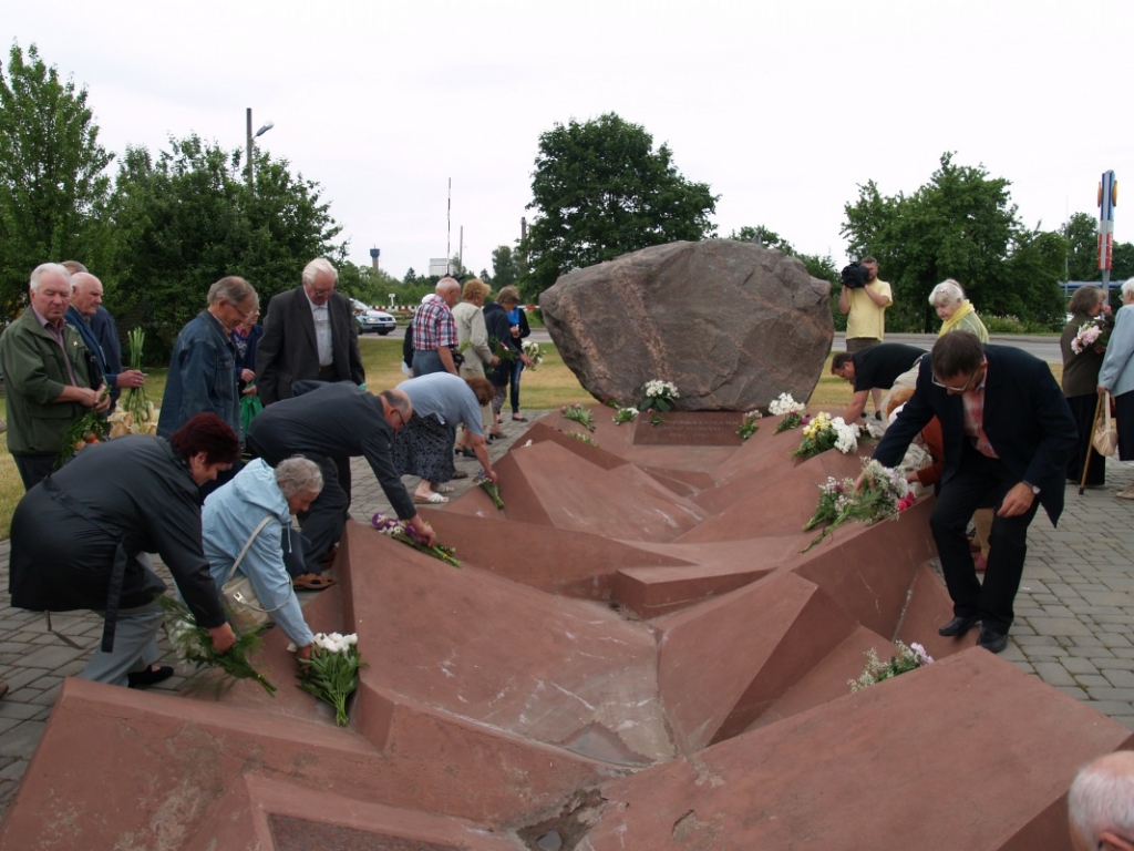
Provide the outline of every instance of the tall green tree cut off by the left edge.
[[86,89],[59,79],[32,44],[0,68],[0,318],[20,310],[32,269],[49,260],[104,266],[112,154],[98,142]]

